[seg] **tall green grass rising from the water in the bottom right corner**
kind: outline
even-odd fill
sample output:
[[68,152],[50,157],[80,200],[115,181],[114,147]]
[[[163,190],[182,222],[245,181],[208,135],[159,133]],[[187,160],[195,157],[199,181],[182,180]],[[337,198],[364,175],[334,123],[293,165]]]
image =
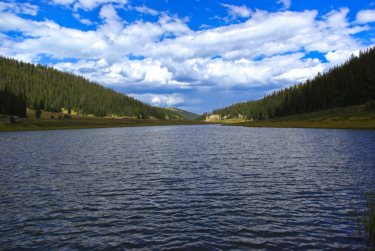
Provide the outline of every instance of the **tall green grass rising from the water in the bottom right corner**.
[[356,211],[353,206],[353,221],[358,227],[359,235],[367,240],[370,249],[375,249],[375,192],[370,189],[366,196],[367,203],[363,206],[363,210]]

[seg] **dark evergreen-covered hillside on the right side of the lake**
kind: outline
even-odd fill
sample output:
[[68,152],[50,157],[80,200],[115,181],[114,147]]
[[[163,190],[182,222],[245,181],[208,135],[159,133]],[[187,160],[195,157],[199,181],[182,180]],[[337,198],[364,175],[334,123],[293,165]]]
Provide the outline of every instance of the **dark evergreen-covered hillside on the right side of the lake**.
[[375,99],[375,47],[351,55],[345,63],[328,72],[318,73],[305,83],[278,90],[264,98],[239,102],[225,108],[207,112],[206,116],[219,115],[221,119],[245,116],[246,120],[282,117],[311,113],[329,108],[365,104]]

